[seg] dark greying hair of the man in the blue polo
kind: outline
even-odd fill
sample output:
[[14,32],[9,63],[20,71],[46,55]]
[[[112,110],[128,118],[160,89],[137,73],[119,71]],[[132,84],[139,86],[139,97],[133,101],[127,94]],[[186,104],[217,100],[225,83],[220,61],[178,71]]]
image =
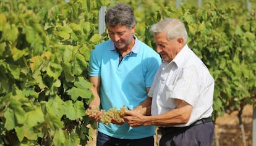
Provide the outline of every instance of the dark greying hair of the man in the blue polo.
[[126,4],[117,4],[107,10],[105,23],[111,26],[126,25],[131,29],[135,25],[134,11]]

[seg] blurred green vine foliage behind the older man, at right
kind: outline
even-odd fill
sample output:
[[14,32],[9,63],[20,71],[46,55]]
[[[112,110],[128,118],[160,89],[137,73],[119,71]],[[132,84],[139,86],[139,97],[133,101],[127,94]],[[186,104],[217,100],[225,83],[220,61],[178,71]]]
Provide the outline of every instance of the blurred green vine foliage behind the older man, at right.
[[234,23],[230,16],[237,14],[236,9],[236,6],[219,9],[211,3],[203,9],[165,7],[145,20],[145,36],[149,36],[145,42],[153,48],[155,44],[148,33],[153,23],[165,17],[179,18],[185,23],[189,34],[187,44],[215,78],[214,118],[256,102],[256,21],[248,12]]

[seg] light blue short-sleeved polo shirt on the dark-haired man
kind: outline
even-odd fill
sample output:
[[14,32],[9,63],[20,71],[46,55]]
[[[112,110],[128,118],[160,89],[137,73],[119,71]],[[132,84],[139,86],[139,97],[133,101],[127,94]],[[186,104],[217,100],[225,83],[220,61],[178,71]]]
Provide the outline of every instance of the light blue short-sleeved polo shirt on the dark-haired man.
[[[134,36],[135,37],[135,36]],[[146,87],[150,87],[161,58],[151,47],[135,37],[132,52],[119,63],[119,53],[110,39],[96,45],[92,50],[89,63],[89,76],[100,76],[101,108],[129,109],[137,107],[147,98]],[[154,126],[131,128],[122,125],[98,123],[98,131],[119,139],[140,139],[153,136]]]

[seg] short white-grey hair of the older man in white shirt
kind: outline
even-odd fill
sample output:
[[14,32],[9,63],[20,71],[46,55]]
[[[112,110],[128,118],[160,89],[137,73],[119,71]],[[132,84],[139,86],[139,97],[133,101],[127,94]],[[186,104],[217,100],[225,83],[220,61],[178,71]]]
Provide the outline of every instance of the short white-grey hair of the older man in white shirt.
[[164,31],[168,40],[181,37],[184,39],[184,44],[187,42],[187,30],[184,23],[177,18],[164,18],[150,28],[151,33],[163,33]]

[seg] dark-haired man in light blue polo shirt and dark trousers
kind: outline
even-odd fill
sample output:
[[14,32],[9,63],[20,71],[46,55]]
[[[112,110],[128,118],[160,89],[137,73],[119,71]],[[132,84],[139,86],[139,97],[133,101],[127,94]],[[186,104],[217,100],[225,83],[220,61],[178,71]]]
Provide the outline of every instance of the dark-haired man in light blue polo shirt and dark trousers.
[[[145,114],[148,108],[143,106],[143,101],[160,67],[160,55],[134,35],[135,17],[129,6],[111,7],[106,12],[105,22],[110,39],[96,45],[90,55],[89,81],[93,83],[95,99],[89,108],[100,107],[107,111],[125,105]],[[154,126],[132,128],[124,120],[106,125],[100,122],[99,114],[89,117],[99,121],[97,146],[154,145]]]

